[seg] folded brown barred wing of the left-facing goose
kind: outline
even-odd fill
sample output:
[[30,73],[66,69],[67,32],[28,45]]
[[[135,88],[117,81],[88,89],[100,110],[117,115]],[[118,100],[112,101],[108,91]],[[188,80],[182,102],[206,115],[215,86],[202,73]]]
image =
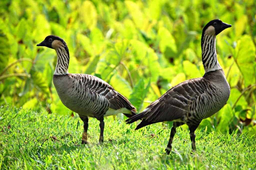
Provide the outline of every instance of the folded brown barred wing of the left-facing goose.
[[89,91],[97,93],[106,98],[111,109],[118,110],[120,108],[127,108],[133,112],[136,112],[136,108],[130,103],[130,101],[115,91],[113,87],[105,81],[88,74],[80,74],[80,76],[84,87],[88,88]]

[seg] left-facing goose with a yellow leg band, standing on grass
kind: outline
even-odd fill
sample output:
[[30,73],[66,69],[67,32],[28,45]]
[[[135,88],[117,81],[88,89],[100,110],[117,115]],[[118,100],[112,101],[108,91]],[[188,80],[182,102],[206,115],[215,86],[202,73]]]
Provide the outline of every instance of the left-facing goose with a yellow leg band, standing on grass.
[[118,113],[127,117],[135,115],[136,108],[108,83],[92,75],[68,73],[69,50],[63,39],[50,35],[37,46],[45,46],[57,52],[53,83],[62,103],[78,113],[84,123],[82,144],[88,143],[88,116],[100,121],[99,143],[102,143],[104,116]]

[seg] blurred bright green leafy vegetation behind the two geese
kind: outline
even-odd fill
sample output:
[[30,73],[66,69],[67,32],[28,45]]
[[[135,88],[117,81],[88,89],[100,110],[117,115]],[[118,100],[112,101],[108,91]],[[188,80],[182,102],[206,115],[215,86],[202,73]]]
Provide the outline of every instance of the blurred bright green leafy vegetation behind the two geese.
[[36,47],[54,34],[68,45],[70,73],[102,78],[141,111],[170,87],[204,75],[201,31],[218,18],[232,24],[216,44],[231,95],[200,128],[256,132],[256,6],[251,0],[1,0],[0,6],[0,105],[72,114],[52,84],[55,51]]

